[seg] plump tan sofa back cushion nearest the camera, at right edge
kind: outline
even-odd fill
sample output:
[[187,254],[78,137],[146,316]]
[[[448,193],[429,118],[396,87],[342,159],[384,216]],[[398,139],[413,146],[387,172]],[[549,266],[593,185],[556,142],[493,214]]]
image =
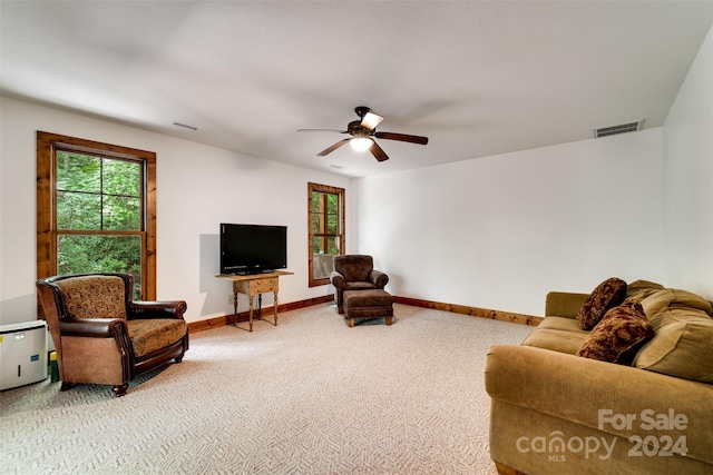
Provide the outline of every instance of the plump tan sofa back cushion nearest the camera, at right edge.
[[649,321],[656,336],[636,354],[634,366],[713,384],[713,318],[709,313],[667,307]]

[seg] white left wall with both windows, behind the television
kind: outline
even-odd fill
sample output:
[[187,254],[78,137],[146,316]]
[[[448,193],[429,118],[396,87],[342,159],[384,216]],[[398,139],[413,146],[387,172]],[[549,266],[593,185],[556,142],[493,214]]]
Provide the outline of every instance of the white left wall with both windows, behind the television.
[[[0,324],[37,318],[36,131],[43,130],[157,154],[157,298],[184,299],[186,319],[232,313],[231,283],[218,273],[219,222],[286,225],[287,265],[280,301],[331,291],[307,286],[307,182],[342,187],[352,179],[254,159],[158,133],[0,98]],[[352,202],[348,199],[348,250]],[[265,296],[264,305],[272,303]],[[240,310],[247,308],[242,296]]]

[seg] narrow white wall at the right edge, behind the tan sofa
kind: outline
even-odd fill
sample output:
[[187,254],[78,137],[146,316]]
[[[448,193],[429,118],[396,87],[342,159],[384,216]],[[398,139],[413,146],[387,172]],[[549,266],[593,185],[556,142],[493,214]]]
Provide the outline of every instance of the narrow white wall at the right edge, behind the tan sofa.
[[713,28],[664,122],[671,286],[713,299]]

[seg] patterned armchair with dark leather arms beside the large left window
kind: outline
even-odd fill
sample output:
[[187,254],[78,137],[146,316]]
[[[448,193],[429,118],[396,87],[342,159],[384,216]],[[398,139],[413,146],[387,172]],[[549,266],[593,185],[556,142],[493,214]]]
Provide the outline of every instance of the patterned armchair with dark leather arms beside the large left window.
[[78,383],[114,385],[123,396],[136,376],[188,349],[186,303],[131,301],[126,274],[81,274],[37,281],[55,343],[61,390]]

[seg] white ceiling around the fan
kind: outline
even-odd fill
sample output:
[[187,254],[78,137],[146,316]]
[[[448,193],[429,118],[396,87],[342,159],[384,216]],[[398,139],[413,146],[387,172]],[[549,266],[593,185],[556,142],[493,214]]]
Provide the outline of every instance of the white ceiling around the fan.
[[[713,1],[2,0],[0,18],[4,96],[365,176],[661,126]],[[362,105],[430,142],[379,140],[379,164],[295,131]]]

